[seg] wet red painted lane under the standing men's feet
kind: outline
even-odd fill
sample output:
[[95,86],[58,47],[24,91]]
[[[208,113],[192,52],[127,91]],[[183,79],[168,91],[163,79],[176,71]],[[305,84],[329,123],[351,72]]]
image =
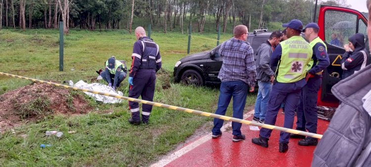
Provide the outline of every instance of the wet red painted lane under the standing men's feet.
[[[247,120],[251,120],[252,116]],[[284,114],[277,116],[277,126],[283,126]],[[296,117],[295,117],[296,122]],[[318,133],[323,134],[329,122],[318,119]],[[295,125],[294,125],[295,127]],[[242,125],[245,141],[232,142],[232,130],[223,132],[218,139],[211,135],[203,144],[188,151],[166,167],[310,167],[315,146],[299,146],[299,139],[290,139],[288,151],[278,152],[279,131],[274,130],[269,140],[269,147],[251,143],[259,136],[259,131],[250,130],[249,125]],[[189,145],[189,144],[187,144]],[[186,146],[185,146],[186,147]]]

